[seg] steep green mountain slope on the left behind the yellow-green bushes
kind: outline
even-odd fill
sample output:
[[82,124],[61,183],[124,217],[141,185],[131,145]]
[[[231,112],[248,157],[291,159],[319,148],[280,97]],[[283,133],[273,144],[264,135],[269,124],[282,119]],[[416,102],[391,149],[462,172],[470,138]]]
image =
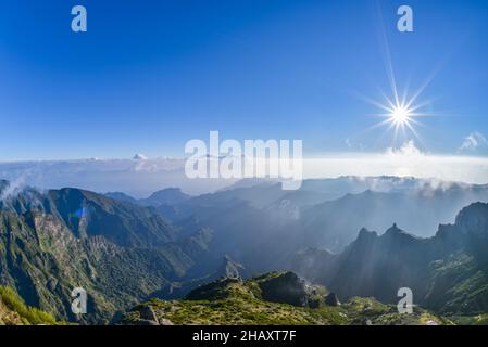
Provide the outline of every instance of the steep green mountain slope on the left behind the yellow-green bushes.
[[70,320],[78,319],[71,291],[80,286],[88,294],[82,322],[107,323],[155,292],[164,295],[212,237],[204,229],[179,237],[151,208],[82,190],[21,192],[0,207],[0,284]]

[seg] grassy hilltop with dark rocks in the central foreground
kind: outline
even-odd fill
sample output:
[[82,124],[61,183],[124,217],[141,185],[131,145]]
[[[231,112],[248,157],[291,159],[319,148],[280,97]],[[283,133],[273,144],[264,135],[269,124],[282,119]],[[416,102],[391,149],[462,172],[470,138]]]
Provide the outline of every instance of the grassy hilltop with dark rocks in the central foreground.
[[[452,324],[420,307],[413,314],[399,314],[397,307],[373,298],[354,297],[338,306],[328,306],[323,298],[327,290],[304,283],[306,303],[300,306],[278,303],[287,295],[300,296],[291,272],[273,272],[248,281],[221,279],[191,292],[184,300],[152,299],[127,312],[123,324]],[[284,280],[285,279],[285,280]],[[291,282],[290,280],[291,279]],[[280,284],[278,284],[280,282]],[[288,282],[288,283],[287,283]],[[271,296],[266,284],[287,295]],[[292,290],[290,291],[289,287]],[[285,293],[285,292],[281,292]],[[267,295],[267,299],[263,299]],[[315,303],[311,305],[311,303]],[[311,307],[314,308],[311,308]]]

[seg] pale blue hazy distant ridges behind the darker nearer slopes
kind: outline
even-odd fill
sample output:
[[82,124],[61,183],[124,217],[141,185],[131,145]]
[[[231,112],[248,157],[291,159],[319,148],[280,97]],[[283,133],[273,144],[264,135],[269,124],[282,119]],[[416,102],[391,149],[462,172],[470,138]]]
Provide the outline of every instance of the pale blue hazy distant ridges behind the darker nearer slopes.
[[227,254],[259,273],[278,269],[297,249],[341,252],[361,228],[386,230],[397,222],[415,235],[431,236],[439,223],[452,222],[474,202],[488,202],[487,185],[341,177],[306,180],[295,192],[273,181],[239,183],[153,207],[185,229],[211,228],[214,259],[208,261],[214,266]]

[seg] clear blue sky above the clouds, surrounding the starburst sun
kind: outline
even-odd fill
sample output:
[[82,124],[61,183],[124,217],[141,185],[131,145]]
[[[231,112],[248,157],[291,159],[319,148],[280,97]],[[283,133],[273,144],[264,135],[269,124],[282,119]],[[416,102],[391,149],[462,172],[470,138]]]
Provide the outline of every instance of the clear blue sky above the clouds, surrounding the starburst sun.
[[[84,4],[88,33],[71,30]],[[414,10],[398,33],[397,8]],[[488,137],[488,1],[0,1],[0,160],[183,156],[186,141],[302,139],[308,154],[415,140],[453,154]],[[381,39],[383,37],[386,38]],[[417,127],[392,141],[377,106],[436,72]]]

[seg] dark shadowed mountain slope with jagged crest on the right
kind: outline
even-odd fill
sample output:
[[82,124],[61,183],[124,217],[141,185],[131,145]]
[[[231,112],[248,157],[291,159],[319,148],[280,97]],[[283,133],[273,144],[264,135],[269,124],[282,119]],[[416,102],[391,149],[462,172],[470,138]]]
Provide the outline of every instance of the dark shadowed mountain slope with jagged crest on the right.
[[420,239],[391,227],[383,235],[362,229],[338,255],[306,250],[293,268],[343,297],[395,303],[410,287],[415,303],[445,313],[488,310],[488,204],[463,208],[454,224]]

